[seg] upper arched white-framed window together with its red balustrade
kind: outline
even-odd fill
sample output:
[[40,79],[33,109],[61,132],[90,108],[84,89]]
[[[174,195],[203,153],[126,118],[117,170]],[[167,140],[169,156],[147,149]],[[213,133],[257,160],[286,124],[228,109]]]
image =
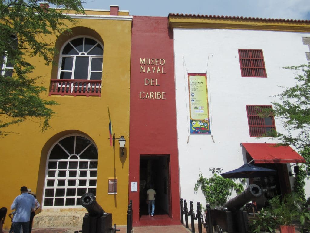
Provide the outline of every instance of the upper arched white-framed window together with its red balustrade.
[[71,38],[60,50],[57,79],[49,95],[101,96],[103,44],[97,39]]

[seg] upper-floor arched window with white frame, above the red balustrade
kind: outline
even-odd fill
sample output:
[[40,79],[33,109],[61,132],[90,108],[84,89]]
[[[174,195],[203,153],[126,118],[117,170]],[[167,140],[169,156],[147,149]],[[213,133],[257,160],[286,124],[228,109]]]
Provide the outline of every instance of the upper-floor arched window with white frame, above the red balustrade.
[[58,79],[101,80],[103,47],[95,39],[67,42],[60,55]]

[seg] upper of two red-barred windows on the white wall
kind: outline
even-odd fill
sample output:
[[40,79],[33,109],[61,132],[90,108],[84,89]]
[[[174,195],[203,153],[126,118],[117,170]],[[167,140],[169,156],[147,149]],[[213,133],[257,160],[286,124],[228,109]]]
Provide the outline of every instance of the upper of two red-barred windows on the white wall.
[[241,76],[267,78],[266,67],[261,49],[238,49]]

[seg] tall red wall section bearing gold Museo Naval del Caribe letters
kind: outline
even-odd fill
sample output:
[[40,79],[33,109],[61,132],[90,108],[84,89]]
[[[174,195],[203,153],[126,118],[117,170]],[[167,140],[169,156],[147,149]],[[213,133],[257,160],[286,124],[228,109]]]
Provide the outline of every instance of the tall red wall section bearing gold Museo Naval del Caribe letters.
[[[173,35],[172,31],[168,29],[167,17],[133,16],[131,35],[129,199],[133,200],[134,225],[139,222],[139,161],[140,155],[143,154],[170,154],[171,217],[172,221],[180,221],[173,54]],[[150,58],[150,62],[154,63],[154,65],[150,64],[148,66],[146,64],[148,58]],[[154,59],[153,62],[152,58]],[[145,72],[141,70],[141,66],[144,67],[141,64],[141,59],[142,61],[145,59]],[[149,72],[148,68],[150,68]],[[150,98],[144,98],[147,92],[149,95],[150,92],[159,92],[161,97],[164,92],[165,97],[155,99],[155,94],[153,94],[153,98],[151,98],[151,95]],[[134,181],[138,181],[138,192],[131,192],[131,182]]]

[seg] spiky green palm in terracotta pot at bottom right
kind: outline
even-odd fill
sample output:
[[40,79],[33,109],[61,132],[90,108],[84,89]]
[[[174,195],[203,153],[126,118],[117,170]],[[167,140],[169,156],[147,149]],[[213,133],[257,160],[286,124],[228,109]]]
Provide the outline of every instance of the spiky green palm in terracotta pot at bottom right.
[[275,216],[280,226],[281,233],[295,233],[292,221],[299,216],[298,198],[294,194],[285,194],[281,200],[276,196],[268,201],[271,206],[271,213]]

